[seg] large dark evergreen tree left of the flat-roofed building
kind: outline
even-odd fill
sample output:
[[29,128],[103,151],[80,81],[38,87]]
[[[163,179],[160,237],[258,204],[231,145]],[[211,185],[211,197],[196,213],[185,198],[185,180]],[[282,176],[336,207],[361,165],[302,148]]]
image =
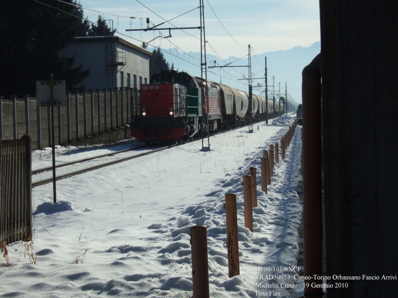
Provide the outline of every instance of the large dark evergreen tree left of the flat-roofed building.
[[76,35],[89,31],[83,9],[67,4],[79,3],[64,2],[0,0],[0,95],[28,93],[33,96],[36,80],[47,80],[51,73],[54,79],[65,79],[67,89],[73,91],[90,74],[82,65],[73,67],[74,57],[58,54]]

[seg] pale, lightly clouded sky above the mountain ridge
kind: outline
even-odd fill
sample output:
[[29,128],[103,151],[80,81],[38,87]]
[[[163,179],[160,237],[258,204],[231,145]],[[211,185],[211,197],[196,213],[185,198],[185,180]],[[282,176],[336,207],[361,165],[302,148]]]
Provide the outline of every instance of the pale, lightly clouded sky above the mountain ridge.
[[[192,9],[194,10],[172,20],[171,23],[179,27],[199,26],[199,0],[139,1],[153,12],[137,0],[80,0],[84,7],[106,12],[104,18],[113,19],[113,26],[118,29],[121,37],[122,34],[130,36],[130,32],[126,32],[125,29],[146,27],[146,17],[159,24],[164,22],[163,19],[172,19]],[[92,21],[97,20],[98,14],[96,11],[85,10],[85,16],[89,16]],[[133,16],[135,19],[122,16]],[[247,55],[248,44],[255,54],[261,54],[288,50],[295,46],[308,47],[320,40],[318,0],[204,0],[204,16],[206,40],[209,44],[206,47],[207,53],[216,56],[218,54],[223,59]],[[159,27],[172,26],[166,23]],[[162,48],[177,46],[187,53],[200,52],[199,30],[185,31],[172,30],[172,38],[158,38],[151,42],[151,45]],[[163,33],[168,35],[169,31]],[[126,36],[124,38],[140,44],[137,40],[148,42],[157,36],[159,32],[131,32],[134,39]]]

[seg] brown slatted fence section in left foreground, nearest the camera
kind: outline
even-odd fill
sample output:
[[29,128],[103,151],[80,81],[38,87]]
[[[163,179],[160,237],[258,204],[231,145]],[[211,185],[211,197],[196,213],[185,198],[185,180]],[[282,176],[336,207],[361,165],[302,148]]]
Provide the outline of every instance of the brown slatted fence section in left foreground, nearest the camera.
[[0,139],[0,243],[12,243],[32,233],[31,141]]

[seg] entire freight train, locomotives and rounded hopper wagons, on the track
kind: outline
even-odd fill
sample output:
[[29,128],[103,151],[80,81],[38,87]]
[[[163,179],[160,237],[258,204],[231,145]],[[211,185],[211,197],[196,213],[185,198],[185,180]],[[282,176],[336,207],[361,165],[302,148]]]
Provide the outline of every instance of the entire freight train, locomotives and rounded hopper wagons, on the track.
[[[140,87],[140,96],[131,101],[130,129],[131,136],[147,144],[189,140],[207,130],[235,128],[263,120],[266,115],[264,97],[252,94],[250,104],[245,91],[184,72],[162,71]],[[283,110],[282,103],[268,100],[270,117]]]

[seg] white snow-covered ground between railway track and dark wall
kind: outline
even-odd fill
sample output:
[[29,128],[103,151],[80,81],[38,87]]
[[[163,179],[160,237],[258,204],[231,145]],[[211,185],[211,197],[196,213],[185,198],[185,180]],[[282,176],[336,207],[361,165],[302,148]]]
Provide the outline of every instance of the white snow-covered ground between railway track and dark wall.
[[[262,151],[280,142],[293,121],[293,114],[285,115],[268,126],[255,124],[252,134],[244,127],[213,136],[211,151],[200,151],[197,141],[60,180],[57,204],[50,203],[52,184],[34,188],[36,264],[24,258],[22,243],[10,245],[11,266],[0,260],[1,297],[190,298],[190,227],[196,224],[207,227],[210,297],[290,297],[283,286],[294,285],[297,274],[285,267],[296,266],[298,253],[300,127],[286,159],[275,166],[268,195],[259,173]],[[94,151],[57,158],[81,159]],[[243,218],[242,177],[250,166],[258,169],[253,233]],[[238,202],[240,275],[231,279],[223,246],[226,193]],[[266,274],[278,279],[258,276]]]

